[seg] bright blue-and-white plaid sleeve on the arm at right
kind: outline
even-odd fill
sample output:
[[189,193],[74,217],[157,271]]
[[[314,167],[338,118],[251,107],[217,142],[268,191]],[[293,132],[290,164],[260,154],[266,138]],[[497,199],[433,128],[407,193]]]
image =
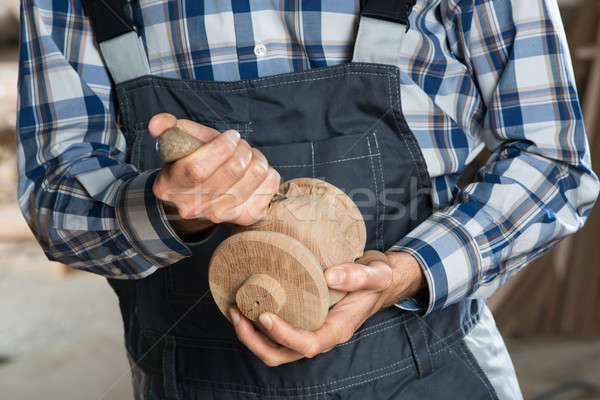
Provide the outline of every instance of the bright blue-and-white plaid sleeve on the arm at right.
[[392,248],[419,261],[429,291],[398,306],[425,314],[490,296],[580,229],[598,195],[556,2],[448,3],[452,51],[478,85],[492,156],[451,206]]

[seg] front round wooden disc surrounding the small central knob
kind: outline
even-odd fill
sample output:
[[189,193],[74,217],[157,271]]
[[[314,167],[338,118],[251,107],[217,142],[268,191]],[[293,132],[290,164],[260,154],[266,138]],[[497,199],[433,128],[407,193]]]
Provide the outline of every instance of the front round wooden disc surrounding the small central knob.
[[208,280],[215,303],[229,319],[238,289],[253,275],[276,280],[285,291],[276,313],[292,326],[315,330],[323,325],[329,293],[315,256],[297,240],[277,232],[235,234],[215,250]]

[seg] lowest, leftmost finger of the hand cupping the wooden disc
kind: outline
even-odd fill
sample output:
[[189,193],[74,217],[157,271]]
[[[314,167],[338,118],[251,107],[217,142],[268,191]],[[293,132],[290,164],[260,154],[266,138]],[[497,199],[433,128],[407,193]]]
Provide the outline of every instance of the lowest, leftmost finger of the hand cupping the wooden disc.
[[250,320],[241,315],[235,308],[232,307],[229,313],[240,342],[268,366],[274,367],[303,358],[302,354],[273,343],[256,330]]

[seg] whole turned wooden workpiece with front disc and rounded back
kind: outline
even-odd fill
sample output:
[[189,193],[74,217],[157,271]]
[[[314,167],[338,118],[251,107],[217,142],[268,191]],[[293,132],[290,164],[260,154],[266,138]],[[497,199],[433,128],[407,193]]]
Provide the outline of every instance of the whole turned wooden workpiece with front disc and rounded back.
[[344,296],[327,288],[323,270],[362,255],[365,223],[354,202],[327,182],[294,179],[280,193],[285,198],[272,202],[265,218],[215,250],[210,289],[227,318],[237,305],[252,321],[268,311],[315,330]]

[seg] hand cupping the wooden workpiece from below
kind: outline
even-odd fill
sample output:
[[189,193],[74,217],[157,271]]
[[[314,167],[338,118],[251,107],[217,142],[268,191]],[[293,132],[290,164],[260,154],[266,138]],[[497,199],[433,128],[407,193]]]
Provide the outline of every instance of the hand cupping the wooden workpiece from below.
[[314,332],[297,329],[274,314],[264,313],[259,322],[268,338],[231,308],[240,341],[268,366],[312,358],[350,340],[369,317],[415,295],[425,282],[417,260],[402,252],[386,255],[367,251],[355,263],[328,269],[325,277],[330,288],[349,293],[329,311],[321,328]]

